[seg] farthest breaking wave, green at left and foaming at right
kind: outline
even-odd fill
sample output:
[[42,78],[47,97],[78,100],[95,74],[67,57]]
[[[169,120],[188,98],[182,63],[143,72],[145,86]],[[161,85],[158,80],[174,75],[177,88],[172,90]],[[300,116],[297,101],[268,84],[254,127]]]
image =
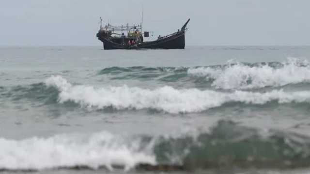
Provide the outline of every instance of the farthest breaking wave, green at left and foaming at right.
[[109,67],[98,72],[110,80],[156,80],[182,82],[192,87],[218,89],[256,89],[310,82],[310,64],[305,59],[284,62],[245,63],[235,60],[206,67]]

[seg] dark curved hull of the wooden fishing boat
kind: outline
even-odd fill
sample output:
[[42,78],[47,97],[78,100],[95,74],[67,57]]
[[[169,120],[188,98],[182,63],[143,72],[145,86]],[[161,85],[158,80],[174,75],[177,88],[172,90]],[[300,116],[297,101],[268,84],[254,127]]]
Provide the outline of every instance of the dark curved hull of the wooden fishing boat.
[[105,50],[111,49],[184,49],[185,31],[179,31],[169,37],[158,39],[152,42],[143,42],[135,45],[122,45],[113,42],[113,39],[104,37],[100,32],[97,33],[98,39],[103,42]]

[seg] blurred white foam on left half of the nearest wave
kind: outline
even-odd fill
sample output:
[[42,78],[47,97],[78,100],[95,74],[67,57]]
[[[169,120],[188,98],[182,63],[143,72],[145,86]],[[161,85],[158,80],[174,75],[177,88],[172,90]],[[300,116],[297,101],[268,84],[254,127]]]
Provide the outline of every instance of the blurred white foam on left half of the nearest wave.
[[0,138],[0,168],[7,170],[43,170],[60,167],[88,166],[97,169],[113,165],[129,170],[138,163],[155,164],[155,157],[141,152],[107,132],[91,136],[58,135],[25,140]]

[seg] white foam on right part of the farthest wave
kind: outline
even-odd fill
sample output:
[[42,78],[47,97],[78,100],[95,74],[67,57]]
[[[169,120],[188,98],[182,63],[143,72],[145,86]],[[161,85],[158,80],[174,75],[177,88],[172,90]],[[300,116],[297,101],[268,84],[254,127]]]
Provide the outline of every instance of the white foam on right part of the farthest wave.
[[249,67],[242,63],[225,68],[192,68],[187,73],[214,80],[212,86],[222,89],[279,87],[310,82],[310,65],[305,60],[289,58],[281,68],[269,65]]

